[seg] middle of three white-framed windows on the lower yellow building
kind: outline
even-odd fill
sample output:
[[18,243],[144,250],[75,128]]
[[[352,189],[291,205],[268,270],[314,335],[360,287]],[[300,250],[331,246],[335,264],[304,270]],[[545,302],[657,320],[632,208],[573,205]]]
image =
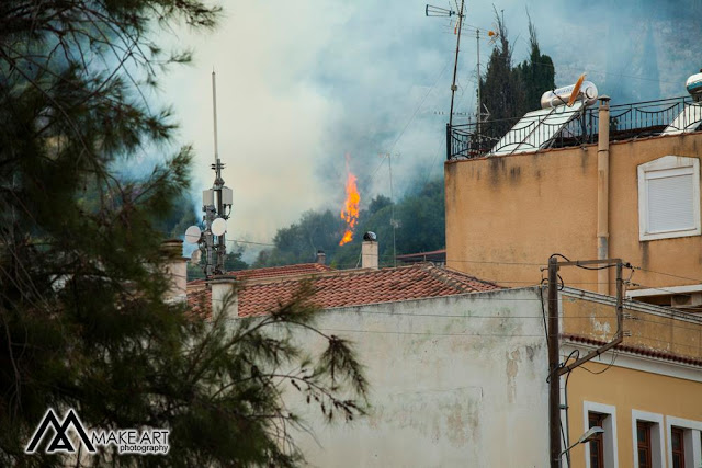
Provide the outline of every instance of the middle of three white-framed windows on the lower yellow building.
[[634,468],[665,467],[663,414],[632,410]]

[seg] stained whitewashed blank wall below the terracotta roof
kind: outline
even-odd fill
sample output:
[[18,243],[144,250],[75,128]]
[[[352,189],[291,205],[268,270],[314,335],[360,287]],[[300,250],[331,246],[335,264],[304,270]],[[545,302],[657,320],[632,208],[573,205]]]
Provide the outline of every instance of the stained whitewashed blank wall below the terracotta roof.
[[349,338],[372,386],[367,418],[296,441],[318,467],[543,467],[547,353],[539,293],[480,293],[331,309],[317,326]]

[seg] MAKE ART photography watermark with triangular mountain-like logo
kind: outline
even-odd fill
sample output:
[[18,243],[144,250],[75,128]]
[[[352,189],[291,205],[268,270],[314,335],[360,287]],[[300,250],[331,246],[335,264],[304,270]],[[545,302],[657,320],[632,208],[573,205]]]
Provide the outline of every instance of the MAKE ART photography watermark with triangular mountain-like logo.
[[63,421],[56,416],[53,409],[48,409],[42,418],[42,422],[34,431],[30,443],[24,453],[34,454],[42,440],[44,440],[49,427],[54,430],[54,437],[46,446],[45,453],[65,453],[75,454],[78,450],[71,437],[69,430],[78,435],[79,443],[83,445],[90,454],[98,452],[98,447],[107,447],[114,445],[118,454],[168,454],[170,445],[168,443],[168,430],[137,430],[121,429],[110,431],[87,431],[83,423],[78,418],[76,411],[71,408],[64,415]]

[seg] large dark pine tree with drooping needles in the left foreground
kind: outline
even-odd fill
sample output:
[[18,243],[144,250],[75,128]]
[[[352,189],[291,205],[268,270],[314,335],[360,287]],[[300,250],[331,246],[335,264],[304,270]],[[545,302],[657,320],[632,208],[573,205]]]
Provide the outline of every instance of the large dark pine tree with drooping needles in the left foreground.
[[[316,331],[308,288],[236,322],[165,300],[159,247],[183,217],[190,148],[144,178],[113,171],[172,141],[169,111],[141,92],[189,55],[154,37],[217,15],[199,0],[0,3],[0,466],[292,466],[301,421],[285,387],[328,419],[362,412],[361,366]],[[294,327],[326,343],[320,354]],[[48,408],[92,429],[169,429],[170,453],[26,455]]]

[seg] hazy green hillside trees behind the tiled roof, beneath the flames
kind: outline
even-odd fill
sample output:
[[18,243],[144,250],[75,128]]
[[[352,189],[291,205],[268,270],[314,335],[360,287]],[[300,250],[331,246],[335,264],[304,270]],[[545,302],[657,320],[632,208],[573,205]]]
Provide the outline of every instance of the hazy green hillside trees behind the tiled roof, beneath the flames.
[[[343,222],[331,212],[307,212],[298,222],[280,229],[273,239],[275,247],[259,254],[254,266],[310,262],[317,250],[324,250],[328,263],[339,269],[360,265],[363,233],[373,231],[380,240],[380,263],[393,265],[393,213],[398,228],[395,231],[397,254],[427,252],[445,246],[445,213],[443,180],[417,181],[395,206],[385,195],[371,199],[361,209],[353,240],[339,247]],[[326,222],[318,222],[327,219]],[[306,235],[314,232],[316,237]]]

